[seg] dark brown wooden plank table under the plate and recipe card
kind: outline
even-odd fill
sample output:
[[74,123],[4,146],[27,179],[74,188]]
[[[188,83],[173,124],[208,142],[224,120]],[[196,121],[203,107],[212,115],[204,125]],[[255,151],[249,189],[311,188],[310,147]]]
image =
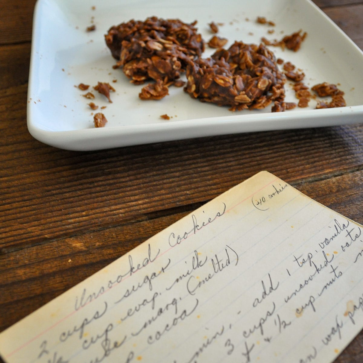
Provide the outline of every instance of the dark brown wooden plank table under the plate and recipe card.
[[[363,125],[93,152],[33,139],[34,3],[0,4],[0,331],[261,170],[363,223]],[[315,3],[363,49],[363,1]],[[363,331],[336,362],[362,361]]]

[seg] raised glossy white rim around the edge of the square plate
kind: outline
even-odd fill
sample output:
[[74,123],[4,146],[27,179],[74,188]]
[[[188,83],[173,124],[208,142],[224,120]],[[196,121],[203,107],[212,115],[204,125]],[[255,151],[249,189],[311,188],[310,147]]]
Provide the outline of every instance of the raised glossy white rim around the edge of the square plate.
[[[327,24],[333,26],[346,41],[349,42],[352,49],[358,52],[358,55],[362,57],[363,51],[356,45],[337,24],[334,23],[316,4],[311,0],[299,0],[305,1],[318,11],[321,16],[325,18]],[[363,104],[354,106],[345,106],[335,109],[321,109],[321,110],[296,110],[293,113],[263,113],[264,117],[261,119],[260,114],[232,114],[225,117],[209,117],[199,119],[188,119],[175,121],[170,123],[146,123],[142,125],[126,125],[126,126],[108,126],[104,128],[90,128],[90,129],[77,129],[77,130],[45,130],[38,127],[34,122],[32,103],[29,99],[32,97],[34,79],[34,64],[36,64],[36,52],[38,49],[37,33],[40,32],[38,27],[38,21],[41,17],[41,6],[49,0],[37,0],[34,7],[33,15],[33,30],[32,30],[32,45],[30,54],[30,67],[29,67],[29,83],[28,83],[28,105],[26,108],[27,114],[27,126],[30,134],[38,141],[66,150],[74,151],[91,151],[101,150],[113,147],[132,146],[137,144],[148,144],[154,142],[164,142],[181,139],[192,139],[196,137],[204,136],[216,136],[226,134],[236,134],[244,132],[258,132],[258,131],[272,131],[272,130],[286,130],[286,129],[299,129],[309,127],[326,127],[337,126],[342,124],[352,124],[362,122]],[[53,0],[53,3],[57,3],[57,0]],[[308,117],[307,117],[308,115]],[[333,120],[332,120],[333,116]],[[276,125],[275,123],[268,123],[266,119],[279,118],[286,122],[286,125]],[[303,125],[298,124],[296,121],[305,118],[309,122],[305,122]],[[319,121],[315,120],[318,118]],[[315,121],[313,121],[313,119]],[[246,123],[253,122],[252,127],[243,127]],[[289,124],[287,124],[289,122]],[[222,124],[224,127],[220,129],[209,127],[208,131],[202,132],[201,127],[215,126]],[[261,124],[264,127],[261,128]],[[266,124],[266,125],[265,125]],[[253,126],[254,125],[254,126]],[[238,127],[239,126],[239,127]],[[216,130],[218,129],[218,130]],[[171,131],[180,131],[180,133]],[[188,131],[188,132],[186,132]],[[95,134],[97,132],[97,134]],[[138,141],[135,139],[135,134],[145,135],[149,133],[150,138],[143,136]],[[118,139],[115,140],[115,134]],[[112,136],[112,137],[111,137]],[[133,137],[130,137],[133,136]],[[107,142],[109,138],[110,142]],[[96,139],[96,140],[95,140]],[[98,140],[97,140],[98,139]],[[94,141],[89,143],[89,141]]]

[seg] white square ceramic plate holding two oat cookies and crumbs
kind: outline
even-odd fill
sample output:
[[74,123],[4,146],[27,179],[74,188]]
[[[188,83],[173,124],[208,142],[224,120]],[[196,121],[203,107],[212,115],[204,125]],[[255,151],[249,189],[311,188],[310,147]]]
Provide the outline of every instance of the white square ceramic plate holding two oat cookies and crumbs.
[[[114,58],[104,35],[112,25],[148,16],[197,20],[205,41],[212,34],[211,21],[223,23],[219,36],[258,44],[261,37],[280,40],[300,29],[307,32],[298,52],[269,47],[284,61],[291,61],[310,87],[321,82],[338,84],[347,106],[308,108],[271,113],[264,110],[232,112],[228,107],[202,103],[182,88],[170,87],[160,101],[141,101],[142,86],[129,82],[122,70],[113,69]],[[264,16],[276,26],[258,24]],[[96,29],[86,32],[87,26]],[[273,34],[268,30],[274,29]],[[215,50],[206,50],[203,57]],[[361,122],[363,119],[363,52],[310,0],[38,0],[34,11],[32,54],[28,90],[28,129],[34,138],[69,150],[98,150],[200,136],[262,130],[294,129]],[[184,78],[182,78],[184,79]],[[114,82],[116,80],[116,82]],[[83,97],[76,85],[109,82],[113,103],[97,92],[94,100]],[[297,102],[285,84],[286,101]],[[92,89],[93,90],[93,89]],[[105,109],[92,111],[93,101]],[[102,112],[108,123],[95,128],[92,113]],[[170,120],[160,118],[167,114]]]

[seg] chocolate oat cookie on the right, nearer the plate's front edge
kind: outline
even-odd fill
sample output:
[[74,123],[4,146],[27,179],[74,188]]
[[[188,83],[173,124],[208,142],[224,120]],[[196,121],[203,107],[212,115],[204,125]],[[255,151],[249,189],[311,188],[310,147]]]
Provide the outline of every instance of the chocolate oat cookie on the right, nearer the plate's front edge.
[[285,98],[286,78],[263,44],[236,41],[211,58],[198,58],[187,66],[187,81],[184,90],[191,97],[232,111],[263,109]]

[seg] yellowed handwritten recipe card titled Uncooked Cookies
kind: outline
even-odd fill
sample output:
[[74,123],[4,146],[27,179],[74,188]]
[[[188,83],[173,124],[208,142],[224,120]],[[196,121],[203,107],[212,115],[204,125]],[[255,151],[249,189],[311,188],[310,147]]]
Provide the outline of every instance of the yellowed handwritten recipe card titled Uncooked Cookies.
[[0,334],[5,362],[332,362],[363,227],[262,171]]

